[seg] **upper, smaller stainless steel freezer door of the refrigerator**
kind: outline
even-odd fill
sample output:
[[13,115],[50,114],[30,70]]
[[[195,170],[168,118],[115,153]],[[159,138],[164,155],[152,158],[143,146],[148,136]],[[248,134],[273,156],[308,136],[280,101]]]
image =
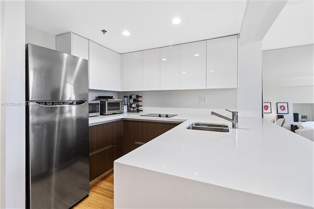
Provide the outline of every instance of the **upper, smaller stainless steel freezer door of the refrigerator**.
[[88,63],[71,54],[26,45],[26,101],[88,100]]

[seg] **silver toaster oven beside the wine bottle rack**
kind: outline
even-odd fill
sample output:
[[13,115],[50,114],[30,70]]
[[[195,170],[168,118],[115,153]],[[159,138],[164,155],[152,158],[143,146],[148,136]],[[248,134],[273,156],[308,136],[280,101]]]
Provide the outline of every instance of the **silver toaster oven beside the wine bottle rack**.
[[122,113],[122,100],[106,99],[100,101],[100,114],[110,115],[116,113]]

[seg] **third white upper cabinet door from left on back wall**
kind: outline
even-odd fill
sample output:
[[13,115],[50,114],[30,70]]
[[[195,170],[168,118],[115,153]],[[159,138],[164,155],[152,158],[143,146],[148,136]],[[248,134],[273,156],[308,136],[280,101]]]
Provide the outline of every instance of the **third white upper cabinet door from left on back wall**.
[[180,46],[160,48],[160,89],[180,88]]

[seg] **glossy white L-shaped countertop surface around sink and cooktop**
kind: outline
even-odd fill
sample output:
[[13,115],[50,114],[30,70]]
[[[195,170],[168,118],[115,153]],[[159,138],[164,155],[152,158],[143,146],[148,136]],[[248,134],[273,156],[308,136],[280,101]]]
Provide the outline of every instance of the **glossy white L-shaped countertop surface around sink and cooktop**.
[[[236,130],[212,115],[141,114],[146,113],[89,119],[90,125],[122,118],[184,121],[116,163],[314,207],[313,141],[262,118],[239,117]],[[230,132],[185,129],[192,122],[226,124]]]

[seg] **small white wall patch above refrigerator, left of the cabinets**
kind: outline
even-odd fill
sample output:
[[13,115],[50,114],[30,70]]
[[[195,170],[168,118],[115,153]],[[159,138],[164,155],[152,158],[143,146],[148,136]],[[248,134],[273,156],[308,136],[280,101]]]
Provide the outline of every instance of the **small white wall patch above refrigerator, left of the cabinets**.
[[26,24],[25,43],[55,50],[55,35]]

